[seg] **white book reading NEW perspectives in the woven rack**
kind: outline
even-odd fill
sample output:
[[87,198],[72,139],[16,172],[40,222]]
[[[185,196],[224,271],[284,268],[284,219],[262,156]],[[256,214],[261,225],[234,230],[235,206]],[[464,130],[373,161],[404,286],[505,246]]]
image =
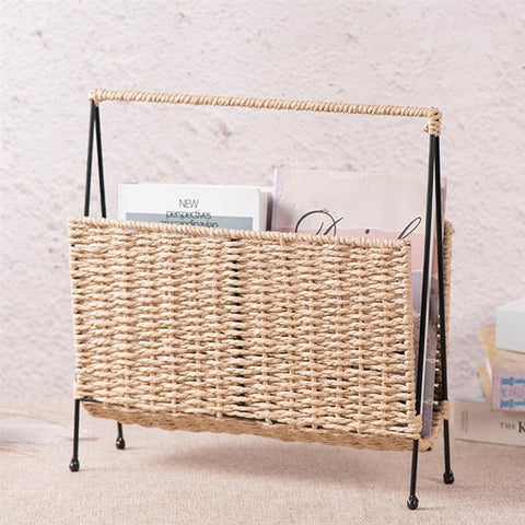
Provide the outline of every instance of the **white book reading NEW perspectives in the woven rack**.
[[117,218],[264,231],[269,201],[269,191],[258,186],[119,184]]

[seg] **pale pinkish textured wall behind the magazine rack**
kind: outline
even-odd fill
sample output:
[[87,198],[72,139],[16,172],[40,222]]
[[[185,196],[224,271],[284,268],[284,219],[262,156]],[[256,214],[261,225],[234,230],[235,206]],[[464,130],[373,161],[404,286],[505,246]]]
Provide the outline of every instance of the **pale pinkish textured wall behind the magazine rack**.
[[[440,107],[457,232],[450,383],[481,395],[477,329],[525,293],[523,2],[11,1],[1,26],[1,396],[71,393],[66,219],[82,212],[93,88]],[[101,110],[112,209],[117,182],[269,184],[282,163],[427,162],[419,120]]]

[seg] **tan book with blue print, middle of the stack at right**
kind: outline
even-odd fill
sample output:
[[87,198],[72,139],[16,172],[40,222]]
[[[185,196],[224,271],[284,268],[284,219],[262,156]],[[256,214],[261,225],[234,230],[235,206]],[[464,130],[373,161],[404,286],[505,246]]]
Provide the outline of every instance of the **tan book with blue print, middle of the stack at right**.
[[[486,371],[492,410],[525,411],[525,354],[495,347],[495,329],[480,328],[479,335],[487,354]],[[479,373],[479,370],[478,370]],[[485,374],[480,375],[481,384]]]

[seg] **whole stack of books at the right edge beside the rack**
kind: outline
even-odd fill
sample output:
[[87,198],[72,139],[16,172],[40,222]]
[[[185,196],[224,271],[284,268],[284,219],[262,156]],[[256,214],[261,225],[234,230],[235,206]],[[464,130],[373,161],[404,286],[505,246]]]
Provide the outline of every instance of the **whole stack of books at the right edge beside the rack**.
[[479,330],[487,355],[478,368],[487,402],[455,401],[456,438],[525,446],[525,298],[497,308]]

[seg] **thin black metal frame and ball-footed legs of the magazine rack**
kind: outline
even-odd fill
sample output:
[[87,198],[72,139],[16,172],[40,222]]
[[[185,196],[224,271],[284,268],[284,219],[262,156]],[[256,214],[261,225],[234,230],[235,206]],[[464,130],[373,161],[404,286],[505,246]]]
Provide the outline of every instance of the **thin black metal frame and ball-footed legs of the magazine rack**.
[[[102,133],[101,133],[101,116],[98,106],[92,101],[91,116],[90,116],[90,131],[88,140],[88,166],[85,175],[85,195],[84,195],[84,215],[90,214],[91,201],[91,177],[93,165],[93,139],[96,137],[96,153],[98,163],[98,185],[101,192],[101,211],[102,217],[106,218],[106,195],[104,185],[104,166],[102,155]],[[435,195],[434,195],[435,192]],[[438,277],[439,277],[439,317],[440,317],[440,345],[441,345],[441,373],[442,373],[442,400],[448,399],[447,385],[447,369],[446,369],[446,317],[445,317],[445,277],[444,277],[444,254],[443,254],[443,218],[442,218],[442,198],[441,198],[441,162],[440,162],[440,138],[430,136],[429,145],[429,165],[428,165],[428,182],[427,182],[427,209],[425,209],[425,233],[424,233],[424,261],[423,261],[423,283],[421,298],[421,323],[419,334],[419,348],[425,349],[427,340],[427,318],[429,312],[429,295],[428,288],[430,276],[430,259],[432,254],[432,220],[433,220],[433,205],[435,201],[435,235],[438,237]],[[416,378],[416,411],[421,413],[421,398],[422,398],[422,378],[425,355],[419,352],[417,363],[417,378]],[[95,399],[83,397],[74,400],[74,430],[73,430],[73,457],[69,468],[75,472],[80,468],[79,464],[79,428],[80,428],[80,401],[97,402]],[[116,441],[117,448],[125,448],[126,443],[122,436],[122,425],[117,422],[118,436]],[[443,438],[444,438],[444,453],[445,453],[445,472],[443,481],[446,485],[454,482],[454,475],[451,470],[451,446],[448,434],[448,420],[443,421]],[[415,510],[419,505],[419,499],[416,495],[416,485],[418,475],[418,456],[419,456],[419,440],[413,440],[412,444],[412,463],[410,471],[410,494],[407,500],[407,506]]]

